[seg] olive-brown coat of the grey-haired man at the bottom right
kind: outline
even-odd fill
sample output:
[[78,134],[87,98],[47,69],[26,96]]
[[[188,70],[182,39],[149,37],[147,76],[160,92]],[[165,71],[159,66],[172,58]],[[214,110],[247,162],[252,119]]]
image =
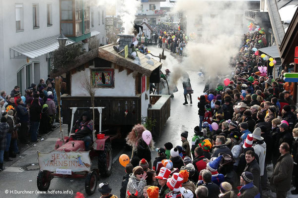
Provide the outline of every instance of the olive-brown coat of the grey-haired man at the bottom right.
[[274,167],[270,184],[273,185],[277,191],[289,191],[291,188],[292,172],[294,160],[290,152],[281,155]]

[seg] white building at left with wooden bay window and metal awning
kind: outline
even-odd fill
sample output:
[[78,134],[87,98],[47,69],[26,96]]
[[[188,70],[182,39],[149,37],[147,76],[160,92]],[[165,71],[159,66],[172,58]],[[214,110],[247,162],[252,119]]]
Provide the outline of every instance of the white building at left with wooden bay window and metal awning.
[[24,95],[47,79],[61,33],[67,45],[97,34],[90,29],[89,0],[1,0],[0,7],[0,90],[7,94],[18,85]]

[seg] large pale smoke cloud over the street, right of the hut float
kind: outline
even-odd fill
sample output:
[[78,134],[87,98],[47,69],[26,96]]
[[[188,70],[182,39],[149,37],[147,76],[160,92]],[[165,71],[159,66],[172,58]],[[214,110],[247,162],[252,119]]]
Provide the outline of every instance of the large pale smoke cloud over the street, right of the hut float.
[[[181,25],[186,27],[183,31],[189,42],[183,49],[186,56],[176,67],[183,71],[201,71],[205,78],[216,81],[231,74],[230,58],[239,51],[246,8],[242,1],[242,7],[233,2],[177,0],[171,13],[179,13],[186,19]],[[172,83],[177,83],[182,74],[174,69],[171,75],[175,76]]]

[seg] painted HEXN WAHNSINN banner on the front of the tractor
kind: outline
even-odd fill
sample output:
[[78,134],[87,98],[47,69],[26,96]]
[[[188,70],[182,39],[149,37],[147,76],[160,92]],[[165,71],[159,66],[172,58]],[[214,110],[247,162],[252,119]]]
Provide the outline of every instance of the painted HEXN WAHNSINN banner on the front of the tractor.
[[[81,171],[90,172],[91,160],[89,151],[64,152],[53,150],[47,153],[37,151],[37,153],[40,170],[47,170],[50,172],[56,172],[58,170],[60,174]],[[65,171],[62,171],[61,169],[64,169]]]

